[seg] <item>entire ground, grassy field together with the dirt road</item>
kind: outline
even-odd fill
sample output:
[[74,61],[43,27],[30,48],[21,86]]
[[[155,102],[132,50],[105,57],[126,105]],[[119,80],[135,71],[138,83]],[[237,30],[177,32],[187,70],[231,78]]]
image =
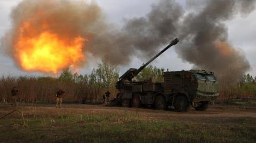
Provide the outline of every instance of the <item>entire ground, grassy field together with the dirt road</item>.
[[[100,105],[19,104],[0,119],[0,142],[255,142],[256,110],[187,113]],[[14,108],[0,103],[0,116]]]

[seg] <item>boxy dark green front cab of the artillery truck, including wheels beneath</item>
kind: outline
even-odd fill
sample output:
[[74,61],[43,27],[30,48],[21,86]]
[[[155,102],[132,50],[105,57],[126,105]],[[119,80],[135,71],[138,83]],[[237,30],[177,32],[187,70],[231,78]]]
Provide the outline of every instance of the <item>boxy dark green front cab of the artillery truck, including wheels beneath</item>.
[[219,82],[213,72],[205,70],[173,71],[164,73],[166,102],[177,111],[187,111],[190,105],[205,111],[209,102],[219,96]]

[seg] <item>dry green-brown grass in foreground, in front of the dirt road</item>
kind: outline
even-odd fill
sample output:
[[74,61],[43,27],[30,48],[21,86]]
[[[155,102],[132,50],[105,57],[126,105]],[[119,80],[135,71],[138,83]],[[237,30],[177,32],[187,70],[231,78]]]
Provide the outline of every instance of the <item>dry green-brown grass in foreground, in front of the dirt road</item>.
[[[229,122],[167,121],[136,111],[97,112],[21,108],[1,120],[2,142],[255,142],[256,128],[249,117]],[[1,110],[0,115],[9,112]],[[209,119],[210,120],[210,119]]]

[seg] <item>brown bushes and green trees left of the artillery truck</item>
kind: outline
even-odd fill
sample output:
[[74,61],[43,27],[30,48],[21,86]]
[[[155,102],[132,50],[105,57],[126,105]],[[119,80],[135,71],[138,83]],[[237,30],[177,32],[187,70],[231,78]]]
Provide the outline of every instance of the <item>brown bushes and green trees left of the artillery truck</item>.
[[51,101],[55,99],[55,92],[61,88],[65,91],[64,100],[74,102],[101,102],[102,95],[109,90],[111,97],[115,97],[115,83],[119,78],[119,68],[107,63],[98,65],[90,74],[73,74],[69,69],[62,71],[58,78],[2,76],[0,79],[0,98],[10,100],[11,89],[18,87],[19,102],[36,102],[38,100]]

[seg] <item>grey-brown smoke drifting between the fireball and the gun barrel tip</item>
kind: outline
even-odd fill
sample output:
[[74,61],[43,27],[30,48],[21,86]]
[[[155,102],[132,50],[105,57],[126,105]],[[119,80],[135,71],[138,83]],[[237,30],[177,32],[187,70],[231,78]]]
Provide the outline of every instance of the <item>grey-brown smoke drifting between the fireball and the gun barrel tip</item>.
[[89,43],[90,52],[112,64],[127,64],[133,56],[151,57],[159,46],[178,35],[182,7],[174,1],[152,5],[145,17],[125,21],[121,29],[109,28]]

